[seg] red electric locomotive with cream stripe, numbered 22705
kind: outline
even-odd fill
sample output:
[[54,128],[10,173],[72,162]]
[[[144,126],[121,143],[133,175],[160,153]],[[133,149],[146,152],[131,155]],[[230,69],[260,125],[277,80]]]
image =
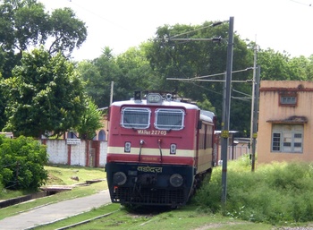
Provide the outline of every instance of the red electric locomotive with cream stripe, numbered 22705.
[[171,94],[149,93],[109,108],[106,178],[112,202],[185,205],[214,152],[215,115]]

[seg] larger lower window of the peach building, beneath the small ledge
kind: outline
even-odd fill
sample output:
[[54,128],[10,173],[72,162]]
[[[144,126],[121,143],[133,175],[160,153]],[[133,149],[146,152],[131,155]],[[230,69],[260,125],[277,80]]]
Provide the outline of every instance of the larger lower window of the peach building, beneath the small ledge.
[[303,124],[273,124],[272,152],[301,153]]

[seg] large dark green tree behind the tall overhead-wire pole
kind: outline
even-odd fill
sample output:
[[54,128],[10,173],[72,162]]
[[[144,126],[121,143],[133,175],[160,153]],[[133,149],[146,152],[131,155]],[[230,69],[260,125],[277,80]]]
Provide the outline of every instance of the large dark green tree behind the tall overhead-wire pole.
[[[227,42],[224,38],[228,36],[228,25],[212,27],[212,24],[212,21],[206,21],[197,26],[176,24],[158,28],[157,39],[153,42],[153,46],[148,48],[147,57],[152,69],[162,76],[162,89],[174,90],[182,97],[199,101],[200,105],[207,105],[209,100],[216,108],[219,126],[223,108],[223,82],[166,81],[169,77],[183,80],[225,72]],[[175,41],[171,38],[186,39]],[[192,38],[219,38],[220,42],[192,41]],[[253,50],[247,47],[247,43],[235,34],[233,44],[233,70],[253,66]],[[252,77],[252,72],[241,72],[241,74],[233,74],[233,79],[247,80],[249,76]],[[222,81],[224,74],[219,74],[211,80]],[[251,88],[247,85],[241,84],[235,87],[243,93],[251,94]],[[203,95],[206,95],[206,98]],[[250,120],[242,119],[242,114],[250,115],[250,105],[233,103],[233,99],[231,105],[231,129],[250,129]]]

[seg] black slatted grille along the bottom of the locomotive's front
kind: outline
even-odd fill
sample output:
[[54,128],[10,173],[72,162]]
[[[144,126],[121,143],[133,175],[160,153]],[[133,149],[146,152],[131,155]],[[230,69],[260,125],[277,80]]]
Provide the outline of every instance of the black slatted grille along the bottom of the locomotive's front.
[[140,192],[136,192],[130,187],[116,188],[113,200],[122,204],[147,205],[183,205],[187,201],[183,188],[178,190],[141,188]]

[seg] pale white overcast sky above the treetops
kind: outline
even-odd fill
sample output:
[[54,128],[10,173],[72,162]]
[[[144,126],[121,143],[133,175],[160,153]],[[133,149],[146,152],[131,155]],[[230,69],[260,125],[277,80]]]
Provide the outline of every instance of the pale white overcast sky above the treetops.
[[119,55],[154,38],[158,27],[228,21],[241,39],[291,56],[313,55],[313,0],[38,0],[50,13],[70,7],[88,37],[73,59],[92,60],[105,47]]

